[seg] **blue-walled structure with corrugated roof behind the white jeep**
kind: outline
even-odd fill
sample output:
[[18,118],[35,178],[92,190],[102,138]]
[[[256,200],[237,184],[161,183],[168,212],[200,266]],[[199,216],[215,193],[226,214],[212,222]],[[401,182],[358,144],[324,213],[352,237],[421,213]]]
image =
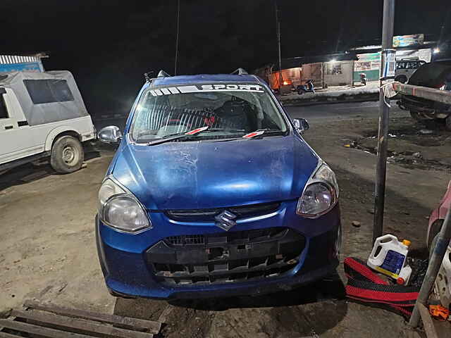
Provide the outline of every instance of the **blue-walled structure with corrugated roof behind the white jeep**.
[[0,73],[11,72],[44,72],[42,58],[48,58],[45,53],[35,54],[0,54]]

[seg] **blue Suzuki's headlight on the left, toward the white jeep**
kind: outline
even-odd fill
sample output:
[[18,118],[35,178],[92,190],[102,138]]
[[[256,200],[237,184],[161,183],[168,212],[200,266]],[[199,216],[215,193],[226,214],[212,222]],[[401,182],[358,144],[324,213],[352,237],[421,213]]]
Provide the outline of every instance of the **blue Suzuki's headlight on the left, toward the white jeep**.
[[140,201],[111,178],[99,190],[99,218],[115,230],[132,234],[152,226]]

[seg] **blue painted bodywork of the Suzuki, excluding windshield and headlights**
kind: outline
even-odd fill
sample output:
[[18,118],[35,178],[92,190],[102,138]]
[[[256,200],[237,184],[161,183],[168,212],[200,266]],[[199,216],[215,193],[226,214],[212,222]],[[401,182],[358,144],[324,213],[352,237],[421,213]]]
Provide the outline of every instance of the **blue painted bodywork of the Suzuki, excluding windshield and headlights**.
[[[152,86],[221,82],[259,84],[271,93],[251,75],[165,77]],[[333,273],[341,242],[340,209],[335,204],[317,218],[297,214],[299,197],[322,161],[275,96],[269,94],[288,123],[285,135],[143,146],[130,142],[128,134],[137,102],[148,87],[144,84],[137,96],[106,175],[136,196],[152,228],[128,234],[96,218],[99,260],[111,293],[159,299],[260,294]],[[240,212],[247,207],[264,211],[237,217],[228,232],[214,220],[174,216],[176,211]],[[179,240],[183,251],[177,246]],[[231,271],[243,260],[247,266],[240,263]],[[178,270],[180,265],[185,270]],[[265,266],[267,270],[262,270]],[[205,269],[213,271],[211,280],[196,282]],[[221,274],[229,277],[221,280]],[[171,278],[178,282],[169,283]]]

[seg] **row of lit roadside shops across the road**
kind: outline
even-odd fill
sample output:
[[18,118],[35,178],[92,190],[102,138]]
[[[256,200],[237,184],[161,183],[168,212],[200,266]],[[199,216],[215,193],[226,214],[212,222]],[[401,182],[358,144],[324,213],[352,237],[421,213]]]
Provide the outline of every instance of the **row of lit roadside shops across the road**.
[[[435,42],[424,41],[423,34],[400,35],[393,37],[393,48],[396,49],[398,67],[412,65],[418,67],[423,62],[431,62]],[[407,62],[419,61],[419,62]],[[358,46],[338,54],[319,56],[304,56],[285,58],[282,60],[282,70],[278,63],[265,65],[254,70],[254,74],[263,78],[272,89],[279,88],[279,73],[282,75],[282,92],[288,92],[292,87],[313,80],[314,86],[354,86],[360,82],[360,74],[364,73],[368,81],[377,81],[381,68],[381,46]],[[409,70],[412,75],[414,69]],[[406,74],[400,72],[399,79],[407,80]]]

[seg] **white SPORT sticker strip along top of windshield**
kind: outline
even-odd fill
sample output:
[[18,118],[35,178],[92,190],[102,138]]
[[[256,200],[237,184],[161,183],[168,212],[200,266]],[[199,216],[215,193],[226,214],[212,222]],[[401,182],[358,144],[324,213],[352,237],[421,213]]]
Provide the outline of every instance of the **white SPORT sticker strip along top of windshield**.
[[198,84],[192,86],[168,87],[152,89],[152,96],[199,93],[199,92],[257,92],[263,93],[263,87],[258,84]]

